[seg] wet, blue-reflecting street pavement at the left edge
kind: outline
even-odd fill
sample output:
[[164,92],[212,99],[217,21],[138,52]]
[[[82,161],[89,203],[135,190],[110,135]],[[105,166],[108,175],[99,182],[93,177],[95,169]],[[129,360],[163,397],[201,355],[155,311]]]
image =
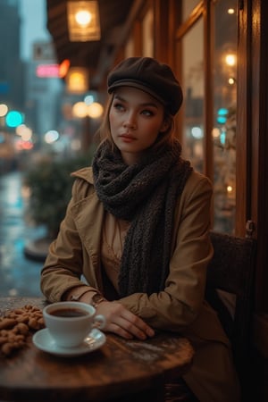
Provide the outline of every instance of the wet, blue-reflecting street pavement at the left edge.
[[27,192],[21,172],[0,175],[0,296],[41,296],[39,289],[42,262],[24,254],[29,242],[42,239],[44,227],[25,219]]

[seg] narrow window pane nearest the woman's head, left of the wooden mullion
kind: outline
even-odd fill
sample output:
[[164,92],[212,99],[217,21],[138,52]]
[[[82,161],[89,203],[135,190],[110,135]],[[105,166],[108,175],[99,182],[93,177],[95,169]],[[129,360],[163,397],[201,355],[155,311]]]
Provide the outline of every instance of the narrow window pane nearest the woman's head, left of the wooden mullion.
[[182,39],[184,116],[182,153],[197,171],[204,166],[204,40],[203,20]]

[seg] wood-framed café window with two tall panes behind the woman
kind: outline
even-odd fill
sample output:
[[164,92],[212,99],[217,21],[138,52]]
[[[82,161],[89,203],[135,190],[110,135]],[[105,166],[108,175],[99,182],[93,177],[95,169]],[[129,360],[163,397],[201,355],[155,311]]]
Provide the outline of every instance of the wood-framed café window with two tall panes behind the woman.
[[214,230],[234,233],[237,1],[182,1],[182,10],[188,16],[177,32],[183,156],[214,182]]

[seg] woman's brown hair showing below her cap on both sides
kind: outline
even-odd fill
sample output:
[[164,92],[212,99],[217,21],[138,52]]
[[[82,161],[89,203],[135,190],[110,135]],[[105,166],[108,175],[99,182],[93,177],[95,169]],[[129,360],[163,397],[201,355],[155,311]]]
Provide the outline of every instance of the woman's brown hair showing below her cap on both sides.
[[[97,130],[96,134],[100,138],[101,143],[107,140],[111,143],[113,148],[115,147],[115,144],[113,142],[110,121],[109,121],[109,114],[112,104],[113,104],[113,93],[108,97],[107,105],[105,107],[104,119],[99,129]],[[164,109],[163,119],[168,123],[167,129],[159,133],[158,138],[155,141],[154,147],[161,147],[164,144],[172,144],[174,140],[174,119],[172,114],[169,113],[169,111],[166,108]]]

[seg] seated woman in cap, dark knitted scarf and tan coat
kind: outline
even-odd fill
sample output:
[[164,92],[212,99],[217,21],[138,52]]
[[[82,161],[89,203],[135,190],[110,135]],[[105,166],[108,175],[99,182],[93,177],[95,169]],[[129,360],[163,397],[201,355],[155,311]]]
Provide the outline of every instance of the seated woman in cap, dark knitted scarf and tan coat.
[[41,289],[50,302],[92,304],[125,339],[180,332],[196,352],[191,400],[237,402],[230,343],[204,299],[212,185],[173,134],[180,84],[169,66],[131,57],[108,75],[108,93],[102,142],[92,168],[73,173]]

